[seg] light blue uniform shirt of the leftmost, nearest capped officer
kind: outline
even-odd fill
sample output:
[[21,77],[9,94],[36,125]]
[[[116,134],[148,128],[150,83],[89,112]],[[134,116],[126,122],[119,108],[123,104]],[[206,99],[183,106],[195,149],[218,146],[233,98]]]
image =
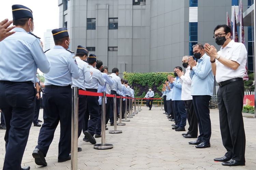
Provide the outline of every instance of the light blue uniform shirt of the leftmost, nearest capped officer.
[[50,70],[39,38],[23,28],[14,28],[13,35],[0,42],[0,80],[12,82],[31,81],[39,68],[43,73]]

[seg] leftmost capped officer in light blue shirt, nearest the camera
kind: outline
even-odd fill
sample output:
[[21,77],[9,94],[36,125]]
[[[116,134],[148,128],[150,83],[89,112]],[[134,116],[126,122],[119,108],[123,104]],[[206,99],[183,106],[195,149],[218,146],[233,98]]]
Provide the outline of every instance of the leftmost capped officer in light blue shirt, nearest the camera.
[[32,11],[23,5],[12,5],[15,33],[0,42],[0,108],[6,124],[3,170],[21,168],[29,130],[34,116],[35,74],[50,70],[40,40],[32,32]]

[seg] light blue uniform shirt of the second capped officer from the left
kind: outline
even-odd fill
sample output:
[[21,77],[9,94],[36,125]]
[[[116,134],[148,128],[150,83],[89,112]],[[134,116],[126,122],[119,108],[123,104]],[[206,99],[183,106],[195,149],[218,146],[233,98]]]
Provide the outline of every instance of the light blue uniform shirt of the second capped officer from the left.
[[45,55],[51,63],[51,69],[44,74],[44,85],[68,86],[72,85],[72,78],[79,78],[80,70],[76,64],[74,53],[62,46],[54,46],[53,49],[46,51]]

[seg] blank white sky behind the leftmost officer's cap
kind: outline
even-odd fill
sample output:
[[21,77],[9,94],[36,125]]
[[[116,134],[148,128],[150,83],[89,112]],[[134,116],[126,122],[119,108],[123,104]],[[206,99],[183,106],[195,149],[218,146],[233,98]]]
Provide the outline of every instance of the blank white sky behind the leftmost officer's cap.
[[0,20],[12,20],[12,5],[27,6],[33,12],[34,32],[43,41],[47,29],[59,28],[58,0],[1,0]]

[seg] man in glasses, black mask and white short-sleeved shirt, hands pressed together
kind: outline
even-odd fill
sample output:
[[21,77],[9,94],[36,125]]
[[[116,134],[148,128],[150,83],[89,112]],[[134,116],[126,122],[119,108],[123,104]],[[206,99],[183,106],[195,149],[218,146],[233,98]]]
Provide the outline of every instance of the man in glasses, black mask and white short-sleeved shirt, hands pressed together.
[[214,29],[216,48],[206,43],[205,51],[211,57],[212,72],[219,84],[218,106],[221,136],[227,153],[215,161],[224,166],[245,165],[245,133],[242,116],[247,51],[242,43],[230,39],[230,28],[218,25]]

